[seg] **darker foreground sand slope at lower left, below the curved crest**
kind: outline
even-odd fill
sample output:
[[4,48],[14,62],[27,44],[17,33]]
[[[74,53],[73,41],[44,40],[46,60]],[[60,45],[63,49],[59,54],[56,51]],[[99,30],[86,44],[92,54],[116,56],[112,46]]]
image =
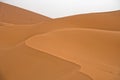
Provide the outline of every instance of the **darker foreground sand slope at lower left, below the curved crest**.
[[0,51],[3,80],[58,80],[78,69],[80,66],[76,64],[32,49],[24,43],[14,49]]

